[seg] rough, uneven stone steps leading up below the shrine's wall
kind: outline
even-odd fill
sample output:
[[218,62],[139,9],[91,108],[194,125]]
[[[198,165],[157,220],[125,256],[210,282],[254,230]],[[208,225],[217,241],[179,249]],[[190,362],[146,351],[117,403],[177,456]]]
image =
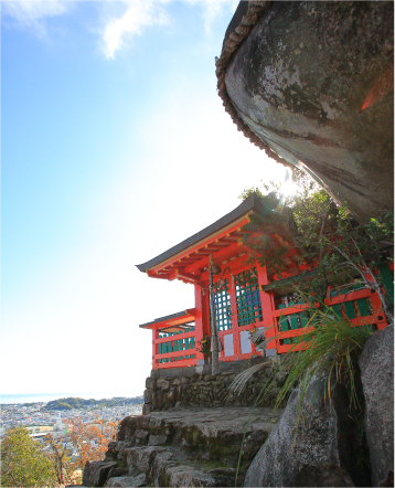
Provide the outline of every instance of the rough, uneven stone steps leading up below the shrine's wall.
[[[186,407],[128,416],[103,462],[87,463],[89,488],[233,488],[282,411],[269,407]],[[247,427],[248,418],[250,422]],[[247,427],[247,428],[246,428]]]

